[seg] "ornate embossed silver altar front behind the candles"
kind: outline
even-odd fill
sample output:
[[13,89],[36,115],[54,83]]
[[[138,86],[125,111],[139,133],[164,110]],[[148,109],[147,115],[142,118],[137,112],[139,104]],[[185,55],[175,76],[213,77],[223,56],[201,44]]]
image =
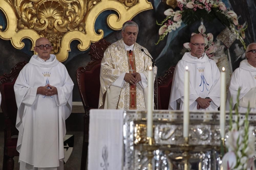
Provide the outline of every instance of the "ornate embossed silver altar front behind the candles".
[[[182,111],[153,111],[154,145],[147,149],[146,111],[124,111],[124,168],[148,169],[148,151],[152,155],[152,169],[218,170],[221,165],[219,112],[190,112],[187,145],[183,138]],[[240,113],[240,120],[245,114]],[[232,120],[236,119],[233,114]],[[256,114],[249,114],[250,126],[256,129]],[[226,132],[229,113],[226,113]],[[254,130],[253,135],[256,134]],[[227,133],[226,133],[227,134]],[[226,135],[226,138],[228,136]],[[185,146],[185,147],[184,147]],[[184,149],[185,148],[185,149]],[[186,163],[186,161],[188,161]]]

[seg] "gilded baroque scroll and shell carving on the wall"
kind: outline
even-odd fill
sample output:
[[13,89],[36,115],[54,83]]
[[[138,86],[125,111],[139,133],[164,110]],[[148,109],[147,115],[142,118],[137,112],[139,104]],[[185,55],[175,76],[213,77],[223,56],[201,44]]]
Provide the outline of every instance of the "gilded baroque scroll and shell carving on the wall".
[[[107,25],[120,30],[122,24],[138,13],[153,9],[147,0],[0,0],[7,24],[5,30],[0,26],[0,37],[11,40],[12,45],[21,49],[24,38],[35,46],[39,37],[46,37],[54,45],[52,53],[61,62],[68,58],[70,43],[78,40],[78,49],[85,51],[91,42],[103,38],[103,30],[94,30],[94,24],[105,10],[115,10]],[[33,50],[33,49],[31,49]]]

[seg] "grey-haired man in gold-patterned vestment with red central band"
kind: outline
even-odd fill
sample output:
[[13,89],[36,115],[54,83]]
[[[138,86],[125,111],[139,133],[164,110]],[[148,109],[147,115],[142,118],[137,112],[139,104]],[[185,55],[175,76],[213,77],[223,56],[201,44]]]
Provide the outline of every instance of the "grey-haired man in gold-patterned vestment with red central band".
[[[147,74],[152,61],[146,48],[136,43],[137,35],[138,25],[126,21],[123,39],[106,49],[100,69],[99,108],[145,110]],[[154,67],[154,77],[156,71]]]

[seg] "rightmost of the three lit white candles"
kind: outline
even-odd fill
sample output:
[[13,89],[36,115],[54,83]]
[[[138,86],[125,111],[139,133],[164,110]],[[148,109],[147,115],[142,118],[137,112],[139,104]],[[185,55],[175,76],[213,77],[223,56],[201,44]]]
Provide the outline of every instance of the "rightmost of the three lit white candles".
[[226,72],[225,68],[222,67],[222,71],[220,73],[221,77],[221,86],[220,86],[220,136],[221,138],[225,138],[225,125],[226,125]]

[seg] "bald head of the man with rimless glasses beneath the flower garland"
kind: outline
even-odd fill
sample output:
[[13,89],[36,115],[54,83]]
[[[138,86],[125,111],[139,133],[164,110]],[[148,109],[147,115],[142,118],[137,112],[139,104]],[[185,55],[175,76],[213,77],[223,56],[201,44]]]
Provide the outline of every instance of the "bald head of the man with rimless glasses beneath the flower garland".
[[191,55],[200,58],[205,50],[205,38],[201,34],[194,34],[190,38]]

